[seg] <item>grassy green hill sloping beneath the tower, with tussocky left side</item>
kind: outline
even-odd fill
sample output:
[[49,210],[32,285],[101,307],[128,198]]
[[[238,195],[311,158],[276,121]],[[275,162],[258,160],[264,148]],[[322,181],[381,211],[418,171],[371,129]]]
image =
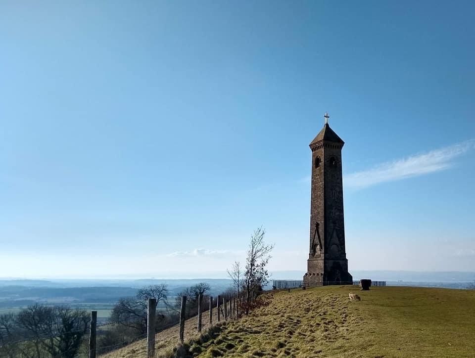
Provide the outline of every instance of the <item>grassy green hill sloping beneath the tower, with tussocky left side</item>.
[[[348,293],[362,300],[350,302]],[[194,334],[196,319],[188,323]],[[175,331],[176,332],[175,332]],[[327,286],[281,291],[272,303],[201,339],[199,357],[474,357],[475,291]],[[157,357],[176,343],[176,327],[157,334]],[[143,357],[145,341],[108,358]]]

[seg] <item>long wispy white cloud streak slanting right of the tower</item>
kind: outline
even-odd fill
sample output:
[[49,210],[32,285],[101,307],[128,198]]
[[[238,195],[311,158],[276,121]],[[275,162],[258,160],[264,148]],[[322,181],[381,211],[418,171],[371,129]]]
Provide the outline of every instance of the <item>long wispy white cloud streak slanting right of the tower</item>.
[[475,140],[468,140],[427,153],[382,163],[372,169],[346,175],[345,187],[364,188],[385,181],[394,181],[439,172],[453,165],[452,159],[475,147]]

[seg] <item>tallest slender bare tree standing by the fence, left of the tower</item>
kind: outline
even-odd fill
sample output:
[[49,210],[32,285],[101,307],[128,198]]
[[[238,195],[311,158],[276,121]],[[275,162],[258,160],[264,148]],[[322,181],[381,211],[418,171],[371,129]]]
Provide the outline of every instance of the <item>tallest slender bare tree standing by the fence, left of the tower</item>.
[[[251,236],[251,242],[247,249],[246,267],[244,270],[244,290],[246,294],[246,306],[256,296],[256,292],[269,282],[269,273],[267,264],[271,258],[270,253],[274,245],[268,245],[264,241],[266,230],[259,227],[254,230]],[[248,309],[246,307],[246,313]]]

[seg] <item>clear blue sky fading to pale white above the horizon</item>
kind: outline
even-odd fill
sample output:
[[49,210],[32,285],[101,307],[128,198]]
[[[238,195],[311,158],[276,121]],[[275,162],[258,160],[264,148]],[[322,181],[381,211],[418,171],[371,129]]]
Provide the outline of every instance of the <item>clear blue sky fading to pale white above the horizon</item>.
[[475,270],[472,1],[2,1],[1,276],[306,269],[309,142],[349,268]]

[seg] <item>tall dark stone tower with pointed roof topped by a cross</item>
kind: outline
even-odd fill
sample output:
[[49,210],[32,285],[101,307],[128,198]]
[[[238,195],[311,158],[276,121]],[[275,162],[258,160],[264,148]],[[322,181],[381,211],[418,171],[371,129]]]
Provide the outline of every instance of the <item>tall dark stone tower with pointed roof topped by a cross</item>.
[[345,252],[341,149],[343,140],[328,125],[310,143],[312,183],[307,287],[352,284]]

